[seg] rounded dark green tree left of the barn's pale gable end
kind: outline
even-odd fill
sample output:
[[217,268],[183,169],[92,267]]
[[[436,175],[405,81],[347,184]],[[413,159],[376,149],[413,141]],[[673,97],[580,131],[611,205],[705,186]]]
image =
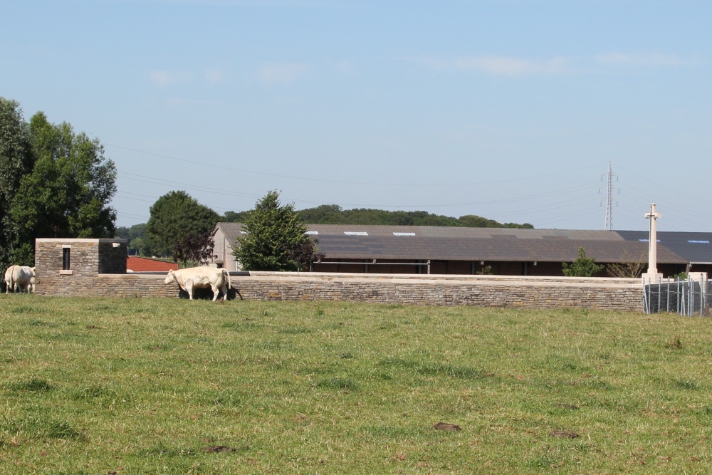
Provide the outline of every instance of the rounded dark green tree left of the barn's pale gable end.
[[172,256],[178,261],[177,246],[186,236],[195,241],[206,232],[212,232],[220,215],[199,204],[184,191],[169,192],[159,197],[151,207],[151,217],[146,226],[146,236],[157,256]]

